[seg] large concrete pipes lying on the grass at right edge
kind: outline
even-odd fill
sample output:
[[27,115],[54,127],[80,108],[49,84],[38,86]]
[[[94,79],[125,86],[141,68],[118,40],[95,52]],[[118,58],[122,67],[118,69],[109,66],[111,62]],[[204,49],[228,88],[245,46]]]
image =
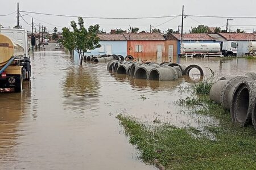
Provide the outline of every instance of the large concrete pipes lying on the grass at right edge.
[[210,100],[230,110],[232,121],[256,130],[256,74],[221,78],[210,89]]

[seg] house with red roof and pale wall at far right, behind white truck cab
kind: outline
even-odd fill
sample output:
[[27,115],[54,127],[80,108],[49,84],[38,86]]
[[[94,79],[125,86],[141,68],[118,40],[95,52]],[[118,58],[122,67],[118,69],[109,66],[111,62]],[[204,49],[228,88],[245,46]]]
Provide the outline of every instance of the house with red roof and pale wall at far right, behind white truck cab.
[[222,36],[226,41],[237,42],[239,57],[245,56],[247,53],[249,53],[249,41],[256,40],[256,36],[253,33],[220,32],[218,35]]

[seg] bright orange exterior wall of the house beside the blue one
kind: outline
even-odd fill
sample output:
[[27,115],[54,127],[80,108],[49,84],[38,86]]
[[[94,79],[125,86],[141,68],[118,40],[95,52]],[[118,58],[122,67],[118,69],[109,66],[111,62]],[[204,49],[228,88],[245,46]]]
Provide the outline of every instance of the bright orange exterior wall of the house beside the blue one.
[[[135,52],[135,45],[142,45],[142,52]],[[156,58],[158,45],[162,45],[163,57],[165,57],[165,46],[164,41],[127,41],[127,55],[131,55],[134,58]],[[168,54],[167,54],[168,56]]]

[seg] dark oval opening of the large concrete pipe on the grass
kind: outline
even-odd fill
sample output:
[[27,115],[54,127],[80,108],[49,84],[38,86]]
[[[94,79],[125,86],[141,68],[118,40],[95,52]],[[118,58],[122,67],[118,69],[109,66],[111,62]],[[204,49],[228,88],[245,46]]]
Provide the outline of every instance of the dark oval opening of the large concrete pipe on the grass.
[[241,90],[240,92],[238,92],[235,102],[236,119],[238,122],[245,122],[250,103],[250,93],[248,88],[246,88],[245,86],[241,87]]

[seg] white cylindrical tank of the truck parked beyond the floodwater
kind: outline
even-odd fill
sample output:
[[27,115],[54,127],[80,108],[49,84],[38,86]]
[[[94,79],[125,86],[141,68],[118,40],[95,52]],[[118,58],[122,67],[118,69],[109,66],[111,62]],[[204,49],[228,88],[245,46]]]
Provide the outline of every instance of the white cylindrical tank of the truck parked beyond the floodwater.
[[218,42],[183,42],[181,53],[220,53],[221,45]]

